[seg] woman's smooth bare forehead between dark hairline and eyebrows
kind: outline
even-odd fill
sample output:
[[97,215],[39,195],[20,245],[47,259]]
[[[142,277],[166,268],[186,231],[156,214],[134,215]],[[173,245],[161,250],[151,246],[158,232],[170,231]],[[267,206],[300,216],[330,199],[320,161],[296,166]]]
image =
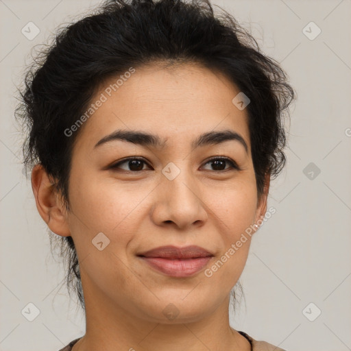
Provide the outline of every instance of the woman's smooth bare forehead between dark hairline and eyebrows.
[[[250,148],[247,112],[232,103],[238,93],[225,75],[197,64],[136,67],[134,73],[109,77],[99,86],[90,101],[95,110],[78,143],[93,149],[102,137],[122,129],[158,134],[171,146],[230,129]],[[96,108],[97,101],[103,102]]]

